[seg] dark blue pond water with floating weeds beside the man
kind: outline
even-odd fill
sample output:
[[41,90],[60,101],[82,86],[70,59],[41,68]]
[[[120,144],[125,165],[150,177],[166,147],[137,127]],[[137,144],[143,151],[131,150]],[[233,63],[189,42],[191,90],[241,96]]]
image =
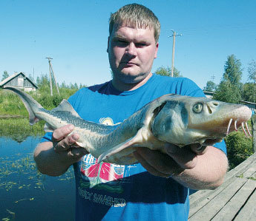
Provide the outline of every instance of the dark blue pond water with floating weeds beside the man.
[[0,137],[0,220],[73,220],[73,168],[60,177],[36,170],[33,149],[39,137],[18,143]]

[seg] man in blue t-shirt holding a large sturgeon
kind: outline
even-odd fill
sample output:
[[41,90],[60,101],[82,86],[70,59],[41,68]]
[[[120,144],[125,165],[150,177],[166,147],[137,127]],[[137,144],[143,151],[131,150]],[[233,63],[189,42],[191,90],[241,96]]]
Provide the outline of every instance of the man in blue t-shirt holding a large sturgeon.
[[[81,118],[119,123],[167,93],[204,96],[187,78],[151,73],[159,34],[157,17],[140,4],[128,4],[111,15],[107,51],[113,79],[69,98]],[[187,220],[188,188],[220,186],[228,166],[223,143],[181,149],[166,143],[168,154],[140,147],[134,152],[140,163],[98,164],[76,145],[79,135],[69,135],[72,130],[68,125],[46,134],[34,157],[39,171],[52,176],[73,164],[76,220]]]

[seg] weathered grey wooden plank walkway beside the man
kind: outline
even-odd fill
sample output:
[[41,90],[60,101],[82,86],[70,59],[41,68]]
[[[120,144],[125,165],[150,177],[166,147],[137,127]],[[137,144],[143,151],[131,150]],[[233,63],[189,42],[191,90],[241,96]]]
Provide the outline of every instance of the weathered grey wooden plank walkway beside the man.
[[[255,216],[256,153],[226,174],[222,186],[191,194],[189,220],[233,220]],[[255,217],[254,217],[255,218]],[[251,219],[256,220],[256,219]]]

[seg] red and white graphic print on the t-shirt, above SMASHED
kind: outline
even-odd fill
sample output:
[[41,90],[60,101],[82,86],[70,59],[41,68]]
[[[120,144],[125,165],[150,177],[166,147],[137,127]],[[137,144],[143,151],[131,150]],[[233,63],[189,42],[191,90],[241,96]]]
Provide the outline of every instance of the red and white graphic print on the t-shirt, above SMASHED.
[[[111,118],[101,118],[99,123],[114,125]],[[129,171],[134,166],[116,165],[114,163],[97,163],[97,159],[91,154],[82,157],[80,173],[82,180],[80,186],[83,188],[100,188],[111,192],[122,192],[121,183],[125,182]]]

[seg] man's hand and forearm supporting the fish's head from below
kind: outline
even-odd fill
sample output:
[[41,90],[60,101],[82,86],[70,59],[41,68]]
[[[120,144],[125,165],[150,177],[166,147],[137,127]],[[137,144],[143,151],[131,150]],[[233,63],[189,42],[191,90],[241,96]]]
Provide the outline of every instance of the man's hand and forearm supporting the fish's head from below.
[[137,147],[134,156],[151,174],[172,177],[188,188],[213,189],[223,183],[228,160],[220,149],[197,144],[180,148],[169,143],[163,148],[167,154]]

